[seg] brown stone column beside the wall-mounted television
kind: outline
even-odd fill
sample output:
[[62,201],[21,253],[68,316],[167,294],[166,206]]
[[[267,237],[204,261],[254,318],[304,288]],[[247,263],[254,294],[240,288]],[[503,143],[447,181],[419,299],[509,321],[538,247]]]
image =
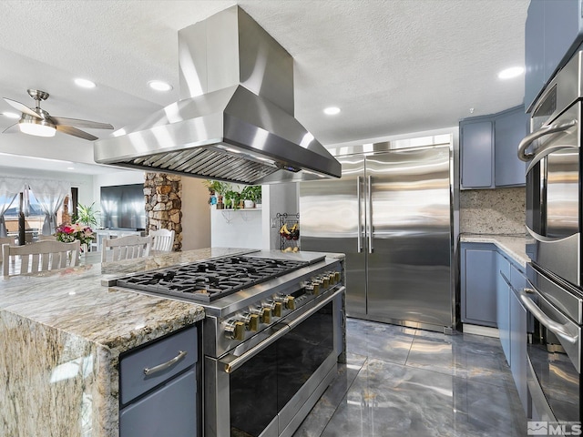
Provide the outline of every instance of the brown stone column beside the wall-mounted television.
[[146,173],[146,230],[174,230],[174,251],[182,249],[182,181],[166,173]]

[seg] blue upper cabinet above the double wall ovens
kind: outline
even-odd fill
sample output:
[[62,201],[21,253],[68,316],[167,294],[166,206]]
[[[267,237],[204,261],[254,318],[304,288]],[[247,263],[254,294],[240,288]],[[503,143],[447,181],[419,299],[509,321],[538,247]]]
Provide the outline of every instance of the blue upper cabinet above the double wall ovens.
[[532,104],[583,41],[581,0],[531,0],[525,34],[525,106]]

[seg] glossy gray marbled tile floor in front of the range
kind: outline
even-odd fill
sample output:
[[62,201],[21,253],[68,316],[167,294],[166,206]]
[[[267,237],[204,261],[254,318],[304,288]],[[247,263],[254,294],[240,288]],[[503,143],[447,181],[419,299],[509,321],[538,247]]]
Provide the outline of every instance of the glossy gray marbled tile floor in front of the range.
[[498,339],[347,325],[348,363],[293,437],[527,435]]

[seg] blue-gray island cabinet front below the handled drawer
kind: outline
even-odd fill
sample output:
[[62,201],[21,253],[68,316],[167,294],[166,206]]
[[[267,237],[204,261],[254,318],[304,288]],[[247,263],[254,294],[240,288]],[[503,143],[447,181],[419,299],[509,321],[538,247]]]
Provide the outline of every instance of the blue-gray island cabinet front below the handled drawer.
[[196,437],[197,379],[187,371],[119,414],[120,437]]

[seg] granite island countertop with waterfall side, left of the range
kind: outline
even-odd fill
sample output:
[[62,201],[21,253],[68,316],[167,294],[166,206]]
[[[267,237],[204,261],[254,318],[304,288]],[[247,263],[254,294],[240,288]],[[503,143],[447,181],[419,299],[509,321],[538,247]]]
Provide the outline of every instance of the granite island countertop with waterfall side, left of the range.
[[0,279],[0,435],[118,435],[119,355],[205,313],[102,280],[245,251],[171,252]]

